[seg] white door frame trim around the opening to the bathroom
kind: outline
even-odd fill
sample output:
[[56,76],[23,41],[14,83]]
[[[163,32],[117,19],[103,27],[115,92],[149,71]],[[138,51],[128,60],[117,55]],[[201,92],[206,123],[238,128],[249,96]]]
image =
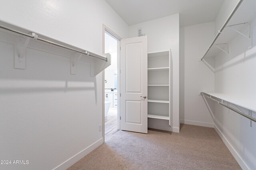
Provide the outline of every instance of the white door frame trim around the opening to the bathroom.
[[[105,31],[118,39],[117,49],[117,94],[120,94],[120,41],[122,37],[116,34],[112,29],[102,24],[102,54],[105,54]],[[120,129],[120,95],[117,95],[117,129]],[[102,71],[102,138],[105,143],[105,70]]]

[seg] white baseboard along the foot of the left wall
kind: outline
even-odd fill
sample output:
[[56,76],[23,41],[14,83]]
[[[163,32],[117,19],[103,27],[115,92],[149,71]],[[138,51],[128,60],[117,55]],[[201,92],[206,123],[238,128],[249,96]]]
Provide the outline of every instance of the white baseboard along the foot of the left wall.
[[96,141],[95,143],[93,143],[86,149],[82,150],[81,152],[77,153],[76,155],[72,156],[71,158],[69,158],[68,160],[66,160],[65,162],[63,162],[62,164],[54,168],[53,170],[66,170],[67,168],[75,164],[78,160],[86,156],[88,153],[92,152],[92,150],[98,148],[100,145],[102,145],[102,143],[103,143],[103,138]]

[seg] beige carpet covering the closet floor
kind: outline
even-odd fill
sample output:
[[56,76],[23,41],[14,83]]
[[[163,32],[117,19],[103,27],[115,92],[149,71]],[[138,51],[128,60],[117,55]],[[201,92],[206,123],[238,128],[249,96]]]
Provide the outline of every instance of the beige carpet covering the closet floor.
[[68,170],[241,169],[213,128],[181,125],[180,133],[118,131]]

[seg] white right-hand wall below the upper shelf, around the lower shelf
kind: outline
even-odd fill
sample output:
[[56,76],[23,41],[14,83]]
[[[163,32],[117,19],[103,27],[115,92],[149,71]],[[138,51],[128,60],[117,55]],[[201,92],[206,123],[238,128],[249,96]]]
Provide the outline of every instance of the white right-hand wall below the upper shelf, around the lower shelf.
[[[256,25],[254,20],[253,25]],[[256,26],[253,29],[256,35]],[[220,53],[215,59],[215,92],[233,96],[243,101],[254,101],[256,96],[256,37],[253,47],[248,49],[248,39],[238,35],[230,44],[229,56]],[[239,102],[238,102],[239,103]],[[234,106],[233,106],[234,107]],[[235,107],[236,108],[236,107]],[[247,109],[241,108],[248,114]],[[253,112],[253,117],[256,113]],[[236,112],[215,104],[215,125],[220,136],[230,146],[243,169],[256,168],[256,123]]]

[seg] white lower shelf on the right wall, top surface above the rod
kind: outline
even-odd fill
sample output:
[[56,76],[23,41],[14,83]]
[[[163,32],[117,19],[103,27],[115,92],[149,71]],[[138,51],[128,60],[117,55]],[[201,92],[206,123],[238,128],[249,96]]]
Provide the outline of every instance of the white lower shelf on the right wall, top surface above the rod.
[[204,92],[204,93],[212,97],[219,98],[226,102],[230,102],[237,106],[244,107],[245,109],[249,109],[251,111],[256,112],[256,106],[255,106],[256,100],[253,97],[250,99],[250,98],[244,98],[242,96],[232,96],[232,95],[223,94],[223,93],[215,93],[215,92]]

